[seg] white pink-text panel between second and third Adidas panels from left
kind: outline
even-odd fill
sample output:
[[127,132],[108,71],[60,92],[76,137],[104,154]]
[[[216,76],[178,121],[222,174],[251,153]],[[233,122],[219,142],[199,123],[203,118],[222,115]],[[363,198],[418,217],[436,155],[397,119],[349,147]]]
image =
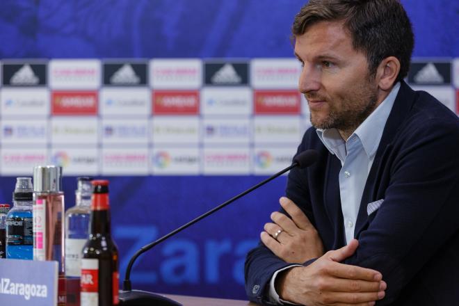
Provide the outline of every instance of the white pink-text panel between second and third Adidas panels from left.
[[156,89],[198,89],[202,86],[200,59],[150,61],[150,86]]

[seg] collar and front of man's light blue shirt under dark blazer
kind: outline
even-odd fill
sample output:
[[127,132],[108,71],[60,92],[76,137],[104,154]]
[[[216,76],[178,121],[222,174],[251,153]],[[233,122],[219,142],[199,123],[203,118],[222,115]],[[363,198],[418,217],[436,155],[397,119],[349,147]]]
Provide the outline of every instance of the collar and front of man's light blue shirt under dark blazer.
[[400,83],[396,83],[389,95],[357,127],[346,142],[341,138],[337,129],[316,130],[323,145],[341,161],[339,195],[346,243],[354,238],[355,221],[359,213],[365,183],[399,89]]

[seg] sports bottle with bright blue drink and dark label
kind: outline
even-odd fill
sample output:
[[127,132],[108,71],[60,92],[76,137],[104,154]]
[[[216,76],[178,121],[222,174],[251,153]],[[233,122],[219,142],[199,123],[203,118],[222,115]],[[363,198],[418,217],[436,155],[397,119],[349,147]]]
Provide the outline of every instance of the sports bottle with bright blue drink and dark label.
[[6,217],[6,258],[33,259],[32,204],[31,177],[17,177],[13,208]]

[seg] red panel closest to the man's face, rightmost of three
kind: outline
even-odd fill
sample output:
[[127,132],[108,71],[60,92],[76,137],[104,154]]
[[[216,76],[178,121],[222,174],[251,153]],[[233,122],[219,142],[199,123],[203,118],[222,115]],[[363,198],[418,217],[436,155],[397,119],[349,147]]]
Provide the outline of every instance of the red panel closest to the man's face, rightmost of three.
[[300,113],[300,94],[296,90],[262,90],[254,93],[256,114]]

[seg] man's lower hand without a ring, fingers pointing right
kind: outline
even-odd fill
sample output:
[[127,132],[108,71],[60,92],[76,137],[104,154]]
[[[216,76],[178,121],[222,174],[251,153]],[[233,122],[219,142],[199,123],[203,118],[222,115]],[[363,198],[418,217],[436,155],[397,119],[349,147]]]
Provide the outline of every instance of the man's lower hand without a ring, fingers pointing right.
[[294,267],[277,276],[275,289],[280,298],[308,306],[375,305],[385,296],[387,284],[378,271],[340,264],[353,255],[358,241],[353,239],[339,250],[309,266]]

